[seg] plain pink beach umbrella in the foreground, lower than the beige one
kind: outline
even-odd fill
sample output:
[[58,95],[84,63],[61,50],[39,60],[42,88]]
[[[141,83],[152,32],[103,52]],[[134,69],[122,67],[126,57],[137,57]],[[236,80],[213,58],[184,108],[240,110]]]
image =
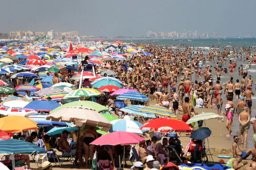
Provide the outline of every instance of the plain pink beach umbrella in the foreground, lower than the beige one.
[[[114,140],[113,140],[114,139]],[[109,134],[102,135],[101,137],[95,139],[90,144],[92,145],[132,145],[138,144],[140,142],[145,142],[145,139],[138,136],[137,134],[124,132],[124,131],[116,131]]]

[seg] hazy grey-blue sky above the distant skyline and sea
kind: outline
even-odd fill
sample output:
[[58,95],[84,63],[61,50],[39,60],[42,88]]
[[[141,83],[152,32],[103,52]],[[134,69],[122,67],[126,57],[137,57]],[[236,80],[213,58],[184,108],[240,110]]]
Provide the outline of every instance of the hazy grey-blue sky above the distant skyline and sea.
[[198,30],[256,36],[256,0],[1,0],[0,32],[146,36]]

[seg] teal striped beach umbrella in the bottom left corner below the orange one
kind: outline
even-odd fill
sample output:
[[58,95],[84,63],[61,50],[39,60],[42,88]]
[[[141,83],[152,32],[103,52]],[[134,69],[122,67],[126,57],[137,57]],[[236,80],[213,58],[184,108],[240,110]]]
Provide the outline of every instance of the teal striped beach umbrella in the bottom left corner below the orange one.
[[24,140],[0,140],[1,154],[32,154],[33,152],[43,154],[46,153],[47,150]]

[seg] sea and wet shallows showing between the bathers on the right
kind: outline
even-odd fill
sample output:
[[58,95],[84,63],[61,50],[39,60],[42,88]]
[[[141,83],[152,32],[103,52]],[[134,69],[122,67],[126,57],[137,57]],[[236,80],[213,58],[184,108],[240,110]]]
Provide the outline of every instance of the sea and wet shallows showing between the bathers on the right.
[[[146,40],[125,40],[124,42],[127,42],[127,43],[130,43],[130,42],[133,42],[133,43],[151,43],[151,44],[155,44],[155,45],[163,46],[163,47],[167,46],[168,48],[176,48],[178,46],[177,44],[187,44],[191,47],[191,49],[194,49],[195,51],[198,51],[199,49],[201,49],[203,51],[203,54],[206,56],[207,53],[208,53],[209,47],[218,47],[219,50],[228,47],[228,48],[230,48],[231,54],[232,54],[232,47],[233,46],[236,46],[236,47],[239,47],[239,48],[241,48],[241,47],[252,47],[251,48],[251,54],[253,54],[254,49],[255,49],[255,44],[256,44],[256,38],[191,39],[191,40],[169,40],[169,39],[168,40],[167,39],[148,40],[148,39],[146,39]],[[179,49],[183,50],[184,47],[179,47]],[[244,57],[244,55],[245,55],[245,53],[242,52],[243,57]],[[236,58],[236,55],[235,55],[235,58]],[[217,59],[215,59],[215,60],[217,61]],[[228,68],[228,60],[227,60],[227,63],[224,64],[224,67],[226,67],[226,68]],[[237,62],[237,66],[240,66],[242,64],[243,67],[248,67],[248,65],[247,65],[248,60],[243,62],[240,59],[236,59],[236,62]],[[211,65],[212,66],[213,79],[214,79],[214,81],[216,81],[217,78],[216,78],[216,75],[214,73],[215,63],[213,63],[212,61],[211,62],[207,61],[206,65]],[[251,68],[248,68],[248,76],[249,75],[251,75],[254,82],[256,82],[256,63],[251,64]],[[228,70],[227,74],[222,74],[220,78],[221,78],[221,82],[220,82],[221,84],[226,83],[230,79],[229,70]],[[241,79],[242,79],[242,76],[238,75],[237,69],[236,69],[236,71],[233,72],[233,78],[234,78],[234,82],[236,82],[236,79],[239,79],[239,81],[241,81]],[[203,78],[201,78],[201,79],[197,78],[196,79],[195,77],[192,76],[192,81],[195,82],[195,80],[203,81]],[[256,84],[255,83],[252,85],[252,91],[255,93],[255,95],[252,96],[252,115],[251,115],[251,117],[256,117]],[[223,94],[222,98],[223,98],[223,103],[225,104],[227,102],[226,96]],[[236,101],[235,96],[234,96],[233,101],[236,105],[237,101]],[[223,104],[223,108],[224,108],[224,104]],[[224,109],[222,111],[224,112]],[[224,119],[224,120],[226,121],[226,119]],[[238,115],[234,115],[233,124],[232,124],[232,131],[233,131],[232,135],[237,135],[237,136],[240,137]],[[227,134],[228,134],[228,130],[227,130]],[[252,129],[252,126],[251,126],[251,128],[248,130],[248,141],[247,141],[247,145],[244,146],[244,150],[254,147],[253,142],[252,142],[252,134],[253,134],[253,129]],[[232,142],[233,142],[232,138],[226,138],[225,135],[223,135],[220,138],[223,138],[224,140],[228,140],[230,142],[230,144],[232,144]]]

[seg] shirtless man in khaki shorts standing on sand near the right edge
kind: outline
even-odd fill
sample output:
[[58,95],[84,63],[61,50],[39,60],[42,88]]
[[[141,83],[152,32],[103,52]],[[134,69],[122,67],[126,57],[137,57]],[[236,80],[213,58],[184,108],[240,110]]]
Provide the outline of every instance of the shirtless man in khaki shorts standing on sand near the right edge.
[[244,111],[242,111],[238,116],[238,121],[240,123],[240,132],[241,132],[241,143],[246,145],[248,130],[250,129],[250,115],[248,113],[248,107],[244,107]]

